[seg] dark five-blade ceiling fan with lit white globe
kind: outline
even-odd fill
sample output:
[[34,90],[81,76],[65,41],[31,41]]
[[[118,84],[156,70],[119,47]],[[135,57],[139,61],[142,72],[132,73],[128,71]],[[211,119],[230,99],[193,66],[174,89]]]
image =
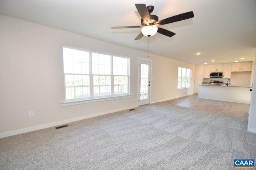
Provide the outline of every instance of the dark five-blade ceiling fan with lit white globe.
[[176,21],[182,21],[189,18],[194,17],[194,13],[192,11],[186,12],[183,14],[179,14],[176,16],[172,16],[170,18],[166,18],[164,20],[158,21],[158,16],[151,15],[151,12],[154,10],[154,6],[146,6],[146,4],[135,4],[140,16],[141,16],[141,25],[142,26],[120,26],[120,27],[111,27],[112,29],[120,29],[120,28],[142,28],[141,33],[134,39],[139,40],[145,36],[153,36],[156,34],[156,32],[166,35],[168,37],[174,36],[176,33],[173,33],[172,31],[168,31],[166,29],[157,27],[159,25],[164,25],[167,23],[172,23]]

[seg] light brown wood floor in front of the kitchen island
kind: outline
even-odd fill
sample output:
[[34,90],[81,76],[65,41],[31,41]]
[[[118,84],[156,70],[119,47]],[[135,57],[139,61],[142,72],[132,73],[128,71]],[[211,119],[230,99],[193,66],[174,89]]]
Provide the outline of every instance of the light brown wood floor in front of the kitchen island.
[[223,102],[218,100],[200,99],[197,94],[167,100],[176,106],[189,107],[198,110],[210,111],[234,117],[248,118],[249,104]]

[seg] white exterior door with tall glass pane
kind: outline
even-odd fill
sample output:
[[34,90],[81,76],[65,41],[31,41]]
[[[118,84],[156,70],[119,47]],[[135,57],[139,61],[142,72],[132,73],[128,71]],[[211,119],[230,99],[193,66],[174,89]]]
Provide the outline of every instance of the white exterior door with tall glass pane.
[[139,106],[142,106],[150,103],[151,62],[140,60],[139,68]]

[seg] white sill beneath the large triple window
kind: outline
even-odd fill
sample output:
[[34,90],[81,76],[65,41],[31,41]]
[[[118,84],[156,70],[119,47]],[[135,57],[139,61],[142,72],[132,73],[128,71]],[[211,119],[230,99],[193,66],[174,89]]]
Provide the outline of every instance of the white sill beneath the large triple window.
[[132,97],[131,94],[123,95],[123,96],[111,96],[106,98],[98,98],[98,99],[87,99],[87,100],[75,100],[75,101],[68,101],[61,103],[61,106],[72,106],[72,105],[78,105],[78,104],[86,104],[86,103],[93,103],[93,102],[102,102],[107,100],[116,100],[116,99],[122,99],[122,98],[130,98]]

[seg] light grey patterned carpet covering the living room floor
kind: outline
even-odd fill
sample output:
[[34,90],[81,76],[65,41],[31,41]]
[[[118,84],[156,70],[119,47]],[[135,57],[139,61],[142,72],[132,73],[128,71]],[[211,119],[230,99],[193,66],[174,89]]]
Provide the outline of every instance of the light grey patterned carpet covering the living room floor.
[[247,123],[160,102],[2,138],[0,169],[232,170],[256,159]]

